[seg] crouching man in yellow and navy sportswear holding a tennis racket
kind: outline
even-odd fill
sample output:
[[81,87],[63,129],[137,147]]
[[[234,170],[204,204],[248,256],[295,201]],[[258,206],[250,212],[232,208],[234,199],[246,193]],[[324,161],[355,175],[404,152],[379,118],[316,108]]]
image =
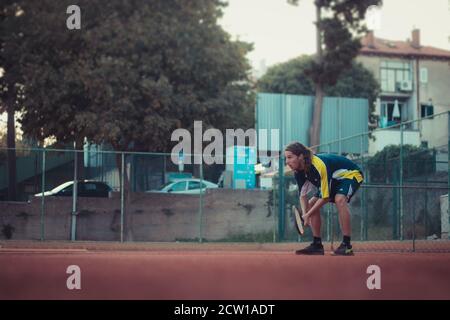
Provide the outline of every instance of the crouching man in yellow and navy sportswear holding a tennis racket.
[[353,255],[350,243],[351,225],[348,203],[363,182],[361,169],[349,159],[333,154],[317,154],[299,142],[289,144],[284,151],[286,164],[294,170],[299,190],[309,181],[318,192],[309,201],[305,193],[300,193],[300,206],[305,225],[310,224],[313,243],[296,254],[323,255],[320,237],[320,208],[328,202],[334,203],[339,213],[339,223],[343,233],[341,245],[335,255]]

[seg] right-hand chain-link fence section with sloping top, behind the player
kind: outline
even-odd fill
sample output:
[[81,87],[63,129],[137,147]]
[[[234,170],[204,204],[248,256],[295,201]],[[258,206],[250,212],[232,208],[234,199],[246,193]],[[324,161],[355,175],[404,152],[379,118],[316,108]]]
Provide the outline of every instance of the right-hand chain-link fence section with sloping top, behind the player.
[[[450,251],[448,121],[444,112],[316,146],[319,153],[346,156],[364,174],[364,182],[350,203],[352,240],[359,242],[359,249]],[[360,152],[343,151],[345,145],[358,143]],[[282,170],[275,193],[281,217],[278,238],[309,242],[311,230],[300,237],[294,227],[291,207],[299,206],[295,179]],[[325,205],[321,216],[322,238],[340,242],[335,206]]]

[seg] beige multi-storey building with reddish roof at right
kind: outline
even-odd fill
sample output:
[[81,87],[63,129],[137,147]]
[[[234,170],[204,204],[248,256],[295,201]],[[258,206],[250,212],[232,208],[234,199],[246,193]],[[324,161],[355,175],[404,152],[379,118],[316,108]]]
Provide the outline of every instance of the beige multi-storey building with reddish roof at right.
[[[429,117],[403,127],[404,143],[430,148],[447,145],[447,116],[430,116],[450,111],[450,51],[423,46],[418,29],[407,41],[380,39],[369,32],[362,39],[357,61],[380,84],[375,108],[378,128]],[[377,139],[370,143],[370,154],[400,143],[399,126],[374,135]]]

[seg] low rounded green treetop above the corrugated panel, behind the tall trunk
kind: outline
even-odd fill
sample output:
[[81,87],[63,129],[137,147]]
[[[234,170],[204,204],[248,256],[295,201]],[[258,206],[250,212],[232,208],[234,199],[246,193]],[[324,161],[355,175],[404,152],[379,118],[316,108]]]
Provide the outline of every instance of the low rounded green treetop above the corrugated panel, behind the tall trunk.
[[[301,56],[269,68],[259,79],[257,87],[261,92],[314,95],[314,83],[306,75],[314,57]],[[324,86],[324,94],[330,97],[366,98],[369,101],[369,121],[375,122],[374,101],[379,85],[373,74],[360,63],[352,62],[344,70],[334,86]]]

